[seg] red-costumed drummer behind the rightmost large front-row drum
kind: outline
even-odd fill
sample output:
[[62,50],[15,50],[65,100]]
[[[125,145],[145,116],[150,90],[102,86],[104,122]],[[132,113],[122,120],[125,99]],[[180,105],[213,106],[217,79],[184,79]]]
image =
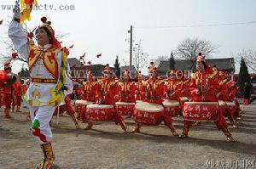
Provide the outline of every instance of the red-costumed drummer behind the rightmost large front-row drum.
[[[197,72],[191,76],[190,82],[190,92],[193,96],[193,102],[218,102],[217,97],[215,96],[218,93],[218,79],[216,76],[216,71],[207,65],[205,56],[201,53],[198,54],[196,61]],[[232,138],[231,133],[228,129],[227,123],[224,120],[224,116],[221,112],[218,112],[218,121],[215,122],[218,129],[221,129],[224,132],[227,140],[230,142],[235,142],[235,139]],[[189,127],[192,126],[193,121],[184,120],[183,133],[179,138],[188,138]]]

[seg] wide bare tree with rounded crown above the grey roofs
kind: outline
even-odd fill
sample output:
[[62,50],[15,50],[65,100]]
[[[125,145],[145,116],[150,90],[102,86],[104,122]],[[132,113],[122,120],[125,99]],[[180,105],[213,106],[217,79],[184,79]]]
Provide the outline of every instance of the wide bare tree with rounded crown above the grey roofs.
[[217,49],[218,46],[213,45],[210,41],[198,38],[187,38],[178,44],[176,55],[181,59],[190,60],[192,65],[190,69],[193,69],[199,52],[209,56],[210,54],[215,53]]

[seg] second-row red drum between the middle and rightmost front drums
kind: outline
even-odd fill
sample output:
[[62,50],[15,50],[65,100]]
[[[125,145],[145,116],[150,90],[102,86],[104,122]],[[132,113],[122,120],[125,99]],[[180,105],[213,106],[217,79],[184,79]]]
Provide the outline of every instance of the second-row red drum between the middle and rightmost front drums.
[[166,100],[163,102],[165,113],[171,116],[177,116],[180,112],[179,102],[176,100]]

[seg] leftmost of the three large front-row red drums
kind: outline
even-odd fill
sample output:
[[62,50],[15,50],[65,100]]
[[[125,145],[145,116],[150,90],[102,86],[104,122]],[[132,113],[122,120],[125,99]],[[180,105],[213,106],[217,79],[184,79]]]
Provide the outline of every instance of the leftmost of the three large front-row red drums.
[[112,121],[114,111],[110,104],[90,104],[87,105],[85,117],[88,121]]

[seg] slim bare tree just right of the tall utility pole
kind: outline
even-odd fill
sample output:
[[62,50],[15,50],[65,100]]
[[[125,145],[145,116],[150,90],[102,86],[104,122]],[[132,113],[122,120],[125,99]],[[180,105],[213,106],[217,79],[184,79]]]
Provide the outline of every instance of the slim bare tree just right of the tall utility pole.
[[145,65],[148,64],[148,54],[143,52],[142,41],[140,40],[133,47],[133,64],[137,71],[141,70]]

